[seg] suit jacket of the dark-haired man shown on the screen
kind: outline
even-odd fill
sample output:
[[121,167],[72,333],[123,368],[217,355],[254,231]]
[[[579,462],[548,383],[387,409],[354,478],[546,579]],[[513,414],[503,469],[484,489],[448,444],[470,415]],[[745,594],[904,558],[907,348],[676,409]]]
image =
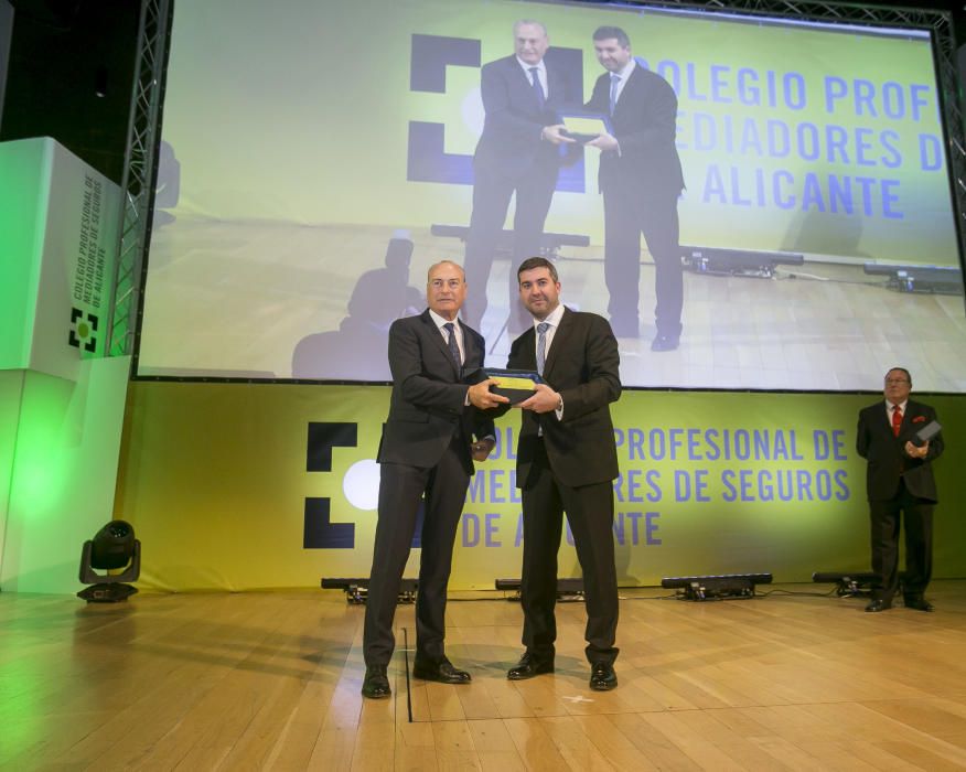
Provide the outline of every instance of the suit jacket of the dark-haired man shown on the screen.
[[[611,74],[604,73],[593,85],[587,109],[607,115],[610,94]],[[611,126],[621,150],[601,153],[601,190],[677,197],[685,184],[675,147],[677,95],[670,84],[638,63],[624,84]]]

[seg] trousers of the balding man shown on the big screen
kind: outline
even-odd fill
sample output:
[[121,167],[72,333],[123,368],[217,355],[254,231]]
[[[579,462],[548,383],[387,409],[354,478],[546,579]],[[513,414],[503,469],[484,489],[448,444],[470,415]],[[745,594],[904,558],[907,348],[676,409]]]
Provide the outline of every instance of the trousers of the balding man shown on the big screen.
[[493,267],[496,245],[501,238],[509,200],[516,193],[513,217],[513,262],[509,266],[508,301],[509,330],[522,332],[529,319],[519,308],[516,269],[528,257],[540,254],[544,224],[550,211],[554,189],[557,186],[556,162],[535,161],[526,170],[507,176],[491,169],[476,167],[473,183],[473,214],[466,234],[466,302],[464,321],[481,330],[486,311],[486,282]]

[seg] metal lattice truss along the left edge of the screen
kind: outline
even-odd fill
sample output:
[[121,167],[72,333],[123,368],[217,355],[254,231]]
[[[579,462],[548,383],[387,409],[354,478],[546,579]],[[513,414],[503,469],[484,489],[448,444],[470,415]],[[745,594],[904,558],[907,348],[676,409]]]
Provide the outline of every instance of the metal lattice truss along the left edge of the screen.
[[118,258],[108,319],[108,356],[133,353],[141,314],[170,23],[171,0],[141,0],[135,85],[121,176]]

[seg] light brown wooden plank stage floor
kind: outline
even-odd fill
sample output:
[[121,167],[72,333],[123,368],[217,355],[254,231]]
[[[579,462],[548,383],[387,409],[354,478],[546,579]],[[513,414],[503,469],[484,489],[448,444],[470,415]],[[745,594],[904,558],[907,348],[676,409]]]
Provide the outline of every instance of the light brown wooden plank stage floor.
[[339,591],[2,593],[0,769],[966,769],[966,581],[934,582],[932,614],[759,589],[625,590],[605,694],[587,686],[582,603],[558,609],[557,673],[511,683],[519,604],[453,597],[461,687],[407,678],[402,605],[379,701],[359,696],[363,608]]

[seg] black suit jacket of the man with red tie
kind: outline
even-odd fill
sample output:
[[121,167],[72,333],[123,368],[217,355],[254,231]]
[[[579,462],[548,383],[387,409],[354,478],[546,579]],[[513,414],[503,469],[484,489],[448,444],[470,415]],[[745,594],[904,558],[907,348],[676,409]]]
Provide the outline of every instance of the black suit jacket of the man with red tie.
[[933,408],[909,399],[899,437],[895,437],[884,399],[859,411],[856,450],[869,462],[866,472],[869,501],[892,498],[899,491],[900,478],[905,481],[905,487],[912,495],[926,501],[938,501],[930,462],[943,452],[942,432],[930,440],[930,450],[924,459],[911,459],[903,450],[916,431],[934,420],[936,411]]

